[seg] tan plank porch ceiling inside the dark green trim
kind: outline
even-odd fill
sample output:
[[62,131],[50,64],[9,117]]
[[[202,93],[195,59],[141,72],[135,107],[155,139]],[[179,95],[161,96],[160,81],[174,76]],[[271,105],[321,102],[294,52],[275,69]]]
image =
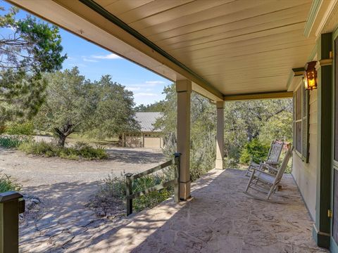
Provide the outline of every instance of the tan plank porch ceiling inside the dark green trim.
[[311,0],[95,2],[226,95],[286,90],[315,44]]

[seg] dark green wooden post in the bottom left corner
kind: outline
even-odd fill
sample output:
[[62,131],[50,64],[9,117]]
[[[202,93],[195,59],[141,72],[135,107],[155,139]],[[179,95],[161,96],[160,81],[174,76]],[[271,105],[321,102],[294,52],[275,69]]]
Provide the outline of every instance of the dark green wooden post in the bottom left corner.
[[25,212],[23,195],[0,193],[0,253],[19,252],[19,214]]

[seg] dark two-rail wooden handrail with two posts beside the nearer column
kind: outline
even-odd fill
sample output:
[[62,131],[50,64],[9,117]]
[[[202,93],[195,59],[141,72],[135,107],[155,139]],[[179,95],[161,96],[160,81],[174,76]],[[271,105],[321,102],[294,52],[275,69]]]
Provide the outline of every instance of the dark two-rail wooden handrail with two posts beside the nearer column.
[[[167,188],[169,186],[174,186],[174,195],[175,195],[175,202],[180,202],[180,153],[175,153],[172,160],[169,160],[167,162],[163,162],[163,164],[160,164],[154,168],[147,169],[146,171],[142,171],[138,174],[125,174],[125,188],[126,188],[126,198],[127,198],[127,216],[132,214],[132,200],[136,197],[146,195],[148,193],[162,190],[164,188]],[[159,171],[161,169],[164,169],[170,165],[175,165],[175,179],[160,183],[156,186],[152,186],[149,188],[146,188],[145,190],[141,190],[137,193],[132,193],[132,181],[135,179],[139,179],[142,176],[149,175],[151,173],[154,173],[156,171]]]

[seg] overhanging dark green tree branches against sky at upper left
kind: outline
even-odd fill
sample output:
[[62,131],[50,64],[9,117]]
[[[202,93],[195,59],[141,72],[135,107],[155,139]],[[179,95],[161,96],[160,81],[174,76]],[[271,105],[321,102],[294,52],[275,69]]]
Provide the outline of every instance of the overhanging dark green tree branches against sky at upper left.
[[63,60],[58,27],[0,6],[0,124],[15,117],[31,117],[44,101],[43,72],[60,70]]

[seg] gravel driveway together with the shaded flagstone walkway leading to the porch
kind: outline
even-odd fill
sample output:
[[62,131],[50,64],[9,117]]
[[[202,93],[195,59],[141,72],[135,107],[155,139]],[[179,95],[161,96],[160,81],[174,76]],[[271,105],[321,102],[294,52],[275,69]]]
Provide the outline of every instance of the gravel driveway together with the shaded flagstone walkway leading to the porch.
[[163,162],[161,150],[109,148],[104,161],[35,157],[0,148],[0,171],[22,184],[22,192],[41,200],[39,216],[20,226],[20,252],[73,252],[77,241],[115,226],[85,207],[108,174],[120,176]]

